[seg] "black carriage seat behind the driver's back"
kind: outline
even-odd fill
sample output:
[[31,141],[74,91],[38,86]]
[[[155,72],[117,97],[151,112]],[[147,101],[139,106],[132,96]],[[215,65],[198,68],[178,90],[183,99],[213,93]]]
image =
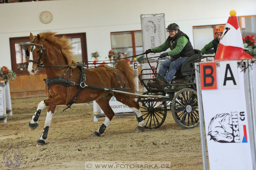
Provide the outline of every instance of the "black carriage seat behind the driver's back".
[[[181,68],[176,72],[175,76],[187,76],[193,74],[195,72],[194,63],[201,62],[201,51],[198,49],[194,49],[195,54],[193,54],[185,63],[182,64]],[[198,60],[197,60],[198,59]]]

